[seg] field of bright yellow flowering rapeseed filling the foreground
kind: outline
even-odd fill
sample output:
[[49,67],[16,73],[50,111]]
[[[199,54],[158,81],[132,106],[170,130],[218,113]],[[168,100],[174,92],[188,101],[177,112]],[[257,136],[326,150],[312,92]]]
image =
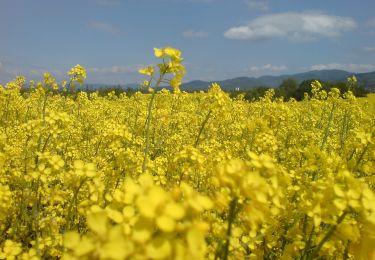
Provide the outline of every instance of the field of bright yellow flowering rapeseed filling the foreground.
[[132,97],[58,92],[80,66],[0,86],[0,259],[375,259],[373,97],[247,102],[171,72]]

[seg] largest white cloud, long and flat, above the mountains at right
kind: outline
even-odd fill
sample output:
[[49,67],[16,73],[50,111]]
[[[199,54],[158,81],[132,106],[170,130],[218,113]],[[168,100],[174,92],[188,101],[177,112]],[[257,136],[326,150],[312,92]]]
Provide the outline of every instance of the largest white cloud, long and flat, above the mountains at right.
[[287,38],[292,41],[310,41],[320,37],[337,37],[356,26],[350,17],[288,12],[260,16],[245,25],[230,28],[224,36],[236,40]]

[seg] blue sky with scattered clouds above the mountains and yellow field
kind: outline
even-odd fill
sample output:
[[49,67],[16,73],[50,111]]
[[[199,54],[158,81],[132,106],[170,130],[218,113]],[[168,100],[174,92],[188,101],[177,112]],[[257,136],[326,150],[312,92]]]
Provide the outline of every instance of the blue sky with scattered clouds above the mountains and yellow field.
[[153,48],[182,51],[184,81],[321,69],[375,71],[375,0],[0,0],[0,83],[138,83]]

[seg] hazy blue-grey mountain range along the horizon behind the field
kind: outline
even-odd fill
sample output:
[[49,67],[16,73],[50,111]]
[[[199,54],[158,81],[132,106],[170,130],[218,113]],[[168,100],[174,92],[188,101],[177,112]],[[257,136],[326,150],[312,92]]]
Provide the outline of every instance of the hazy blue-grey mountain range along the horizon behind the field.
[[[226,79],[220,81],[202,81],[193,80],[190,82],[183,83],[181,85],[182,90],[186,91],[199,91],[207,90],[208,87],[213,83],[217,82],[224,90],[247,90],[254,87],[273,87],[277,88],[285,79],[295,79],[298,84],[304,80],[316,79],[326,82],[346,82],[346,79],[352,75],[355,75],[358,79],[358,83],[364,86],[367,90],[375,92],[375,71],[368,73],[352,73],[344,70],[313,70],[304,73],[280,75],[280,76],[261,76],[261,77],[237,77],[233,79]],[[103,84],[87,84],[90,89],[106,88],[113,85]],[[121,88],[137,89],[139,84],[125,84],[118,85]]]

